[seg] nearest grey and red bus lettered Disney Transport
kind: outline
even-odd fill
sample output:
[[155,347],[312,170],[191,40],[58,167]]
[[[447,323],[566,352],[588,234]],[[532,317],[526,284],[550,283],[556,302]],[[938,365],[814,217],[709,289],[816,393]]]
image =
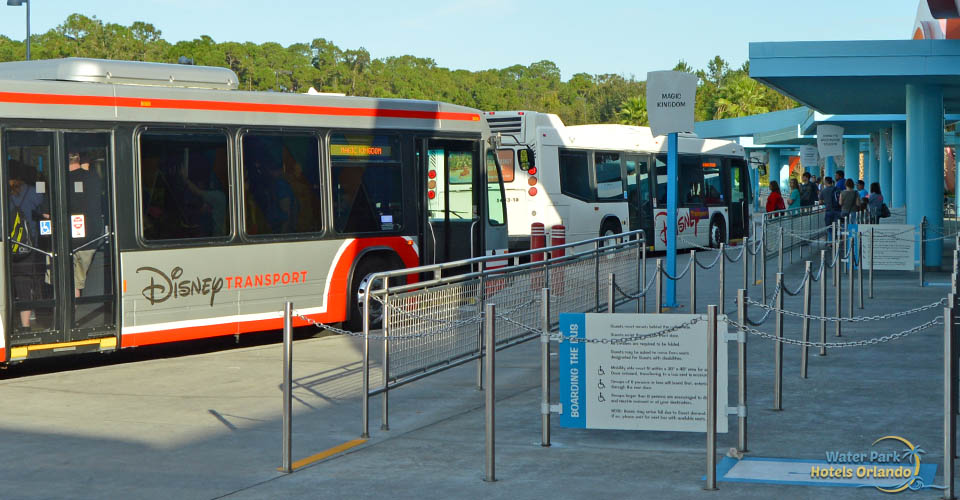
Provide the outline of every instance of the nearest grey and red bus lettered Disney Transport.
[[479,111],[236,86],[0,64],[0,362],[277,329],[287,300],[356,327],[372,273],[506,250]]

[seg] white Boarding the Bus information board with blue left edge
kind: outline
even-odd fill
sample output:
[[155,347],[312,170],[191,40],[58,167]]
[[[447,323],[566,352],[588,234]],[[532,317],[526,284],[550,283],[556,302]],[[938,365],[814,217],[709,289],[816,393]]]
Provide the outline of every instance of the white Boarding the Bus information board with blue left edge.
[[[560,314],[565,337],[623,339],[701,321],[624,344],[560,343],[560,425],[705,432],[707,319],[697,314]],[[719,325],[725,323],[718,323]],[[727,432],[727,344],[718,334],[717,432]]]

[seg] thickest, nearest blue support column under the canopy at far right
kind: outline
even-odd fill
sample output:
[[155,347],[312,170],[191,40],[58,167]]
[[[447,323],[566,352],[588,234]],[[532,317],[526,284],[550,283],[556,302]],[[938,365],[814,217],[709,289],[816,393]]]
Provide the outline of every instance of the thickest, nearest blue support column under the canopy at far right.
[[[943,233],[943,89],[907,84],[907,224],[927,218],[927,237]],[[924,262],[940,267],[943,240],[926,244]]]

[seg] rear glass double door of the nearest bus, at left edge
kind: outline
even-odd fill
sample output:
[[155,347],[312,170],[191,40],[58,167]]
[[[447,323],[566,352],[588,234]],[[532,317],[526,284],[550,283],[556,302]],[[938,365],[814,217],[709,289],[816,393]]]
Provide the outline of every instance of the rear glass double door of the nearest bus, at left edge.
[[3,139],[8,360],[45,344],[116,347],[110,134],[8,130]]

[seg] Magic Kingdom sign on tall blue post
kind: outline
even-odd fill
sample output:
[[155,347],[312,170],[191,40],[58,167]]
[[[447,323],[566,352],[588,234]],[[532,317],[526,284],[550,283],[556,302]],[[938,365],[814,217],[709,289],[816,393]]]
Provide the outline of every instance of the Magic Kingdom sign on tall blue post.
[[[697,77],[682,71],[647,73],[647,116],[653,135],[667,134],[667,269],[677,277],[677,147],[679,132],[693,132],[693,109],[696,104]],[[657,200],[662,203],[662,200]],[[677,307],[677,284],[666,282],[664,306]]]

